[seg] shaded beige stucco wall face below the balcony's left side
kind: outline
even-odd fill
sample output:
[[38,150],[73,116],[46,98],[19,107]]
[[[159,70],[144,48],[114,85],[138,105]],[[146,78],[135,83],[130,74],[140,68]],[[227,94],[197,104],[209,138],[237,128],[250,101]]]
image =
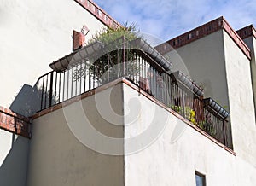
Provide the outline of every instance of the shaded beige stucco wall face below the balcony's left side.
[[[125,185],[123,156],[90,149],[119,148],[123,154],[123,119],[115,120],[119,125],[112,125],[97,109],[106,107],[106,104],[96,103],[96,99],[107,100],[109,95],[112,108],[123,115],[122,87],[118,84],[113,90],[97,92],[95,96],[34,119],[28,186]],[[86,130],[87,125],[92,125],[104,136],[121,139],[122,145],[109,146],[108,140],[101,140]],[[90,139],[90,148],[90,145],[84,145],[87,144],[86,137]]]

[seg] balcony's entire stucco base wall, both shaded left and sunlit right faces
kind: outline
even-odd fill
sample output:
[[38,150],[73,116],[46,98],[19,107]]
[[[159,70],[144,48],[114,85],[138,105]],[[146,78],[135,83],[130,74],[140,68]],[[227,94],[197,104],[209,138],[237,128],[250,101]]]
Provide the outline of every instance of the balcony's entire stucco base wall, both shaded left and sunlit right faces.
[[[206,175],[209,186],[256,183],[256,168],[241,149],[231,153],[127,84],[105,88],[34,120],[28,186],[193,186],[195,171]],[[125,117],[108,121],[103,100]],[[124,138],[119,148],[125,155],[102,154],[84,145],[89,134],[83,124],[88,121],[105,136]],[[108,140],[91,139],[93,147],[116,150]]]

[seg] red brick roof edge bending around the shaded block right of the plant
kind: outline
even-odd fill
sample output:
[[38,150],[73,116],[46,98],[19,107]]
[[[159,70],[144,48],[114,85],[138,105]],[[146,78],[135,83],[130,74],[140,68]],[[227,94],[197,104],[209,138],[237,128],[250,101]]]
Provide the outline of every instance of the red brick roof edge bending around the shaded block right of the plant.
[[180,47],[183,47],[186,44],[190,44],[191,42],[197,39],[203,38],[221,29],[224,29],[224,31],[230,35],[230,38],[233,39],[233,41],[237,44],[237,46],[241,49],[241,51],[250,60],[251,53],[250,53],[250,49],[247,47],[247,44],[243,42],[240,36],[230,26],[227,20],[224,19],[223,16],[215,20],[211,20],[204,25],[198,26],[195,29],[190,30],[189,32],[185,32],[182,35],[177,36],[176,38],[172,38],[166,41],[166,43],[156,46],[155,49],[157,49],[161,54],[166,54],[172,49],[178,49]]

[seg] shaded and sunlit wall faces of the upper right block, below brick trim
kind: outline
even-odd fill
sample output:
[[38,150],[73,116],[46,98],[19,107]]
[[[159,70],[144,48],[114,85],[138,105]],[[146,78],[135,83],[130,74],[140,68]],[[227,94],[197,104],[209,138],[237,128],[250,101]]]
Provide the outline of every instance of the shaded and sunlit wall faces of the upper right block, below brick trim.
[[[252,45],[255,39],[250,42]],[[175,64],[173,71],[180,68],[180,63],[183,62],[185,65],[180,69],[185,72],[187,70],[189,76],[204,88],[205,97],[211,96],[220,105],[227,106],[230,111],[234,150],[244,160],[255,165],[254,77],[251,78],[251,68],[254,71],[255,64],[254,55],[250,61],[223,29],[166,55]]]

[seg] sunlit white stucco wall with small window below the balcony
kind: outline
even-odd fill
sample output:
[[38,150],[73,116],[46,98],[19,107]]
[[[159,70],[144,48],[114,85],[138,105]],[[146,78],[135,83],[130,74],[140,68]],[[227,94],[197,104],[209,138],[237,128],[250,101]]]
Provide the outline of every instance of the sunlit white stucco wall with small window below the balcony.
[[148,148],[125,156],[126,186],[193,186],[195,171],[206,175],[207,186],[255,185],[256,168],[243,160],[240,154],[234,156],[220,148],[172,113],[155,105],[127,85],[124,85],[124,98],[125,115],[130,113],[131,105],[129,106],[128,102],[132,99],[140,102],[142,108],[138,113],[139,117],[132,124],[125,119],[125,125],[130,124],[125,127],[125,137],[143,133],[151,125],[144,120],[152,118],[153,113],[157,114],[152,113],[152,110],[160,110],[157,117],[159,125],[166,122],[160,137]]

